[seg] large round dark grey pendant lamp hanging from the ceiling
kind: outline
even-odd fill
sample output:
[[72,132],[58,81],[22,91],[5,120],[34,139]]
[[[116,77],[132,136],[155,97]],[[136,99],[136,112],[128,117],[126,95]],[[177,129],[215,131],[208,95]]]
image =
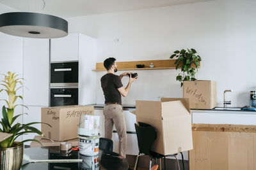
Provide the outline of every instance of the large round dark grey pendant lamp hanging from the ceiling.
[[28,38],[60,38],[67,36],[68,22],[44,13],[3,13],[0,15],[0,31]]

